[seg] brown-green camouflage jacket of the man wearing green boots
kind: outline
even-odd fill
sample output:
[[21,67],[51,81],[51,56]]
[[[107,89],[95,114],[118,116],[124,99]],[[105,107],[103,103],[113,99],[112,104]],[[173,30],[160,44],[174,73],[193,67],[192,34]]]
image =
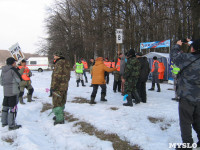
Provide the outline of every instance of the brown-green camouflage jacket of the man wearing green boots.
[[54,91],[67,91],[70,80],[70,65],[65,58],[56,60],[52,73],[51,88]]

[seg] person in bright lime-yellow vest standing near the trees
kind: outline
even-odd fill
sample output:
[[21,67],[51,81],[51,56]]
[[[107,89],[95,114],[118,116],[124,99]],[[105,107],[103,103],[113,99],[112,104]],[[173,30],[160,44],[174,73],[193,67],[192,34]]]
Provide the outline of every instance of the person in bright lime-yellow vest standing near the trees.
[[77,82],[77,87],[79,87],[79,82],[81,81],[82,83],[82,86],[85,86],[84,85],[84,81],[83,81],[83,71],[84,71],[84,65],[83,63],[81,62],[81,60],[79,60],[76,65],[75,65],[75,68],[76,68],[76,82]]

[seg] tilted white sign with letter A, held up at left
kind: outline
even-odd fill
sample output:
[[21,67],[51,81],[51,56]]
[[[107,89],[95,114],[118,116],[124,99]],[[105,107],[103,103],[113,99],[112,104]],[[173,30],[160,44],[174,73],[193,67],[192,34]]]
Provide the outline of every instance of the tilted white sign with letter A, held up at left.
[[9,48],[9,51],[10,51],[12,57],[17,61],[17,63],[19,63],[20,61],[22,61],[25,58],[18,43],[11,46]]

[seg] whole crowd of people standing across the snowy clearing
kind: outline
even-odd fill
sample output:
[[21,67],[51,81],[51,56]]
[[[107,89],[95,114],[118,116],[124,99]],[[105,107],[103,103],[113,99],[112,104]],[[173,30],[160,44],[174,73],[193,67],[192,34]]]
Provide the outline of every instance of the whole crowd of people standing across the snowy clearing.
[[[192,145],[191,128],[193,127],[199,140],[197,145],[200,147],[200,40],[193,41],[190,45],[191,53],[183,53],[181,51],[182,44],[182,41],[178,41],[170,52],[170,58],[175,64],[173,72],[176,74],[177,81],[176,93],[179,100],[181,136],[183,143]],[[159,76],[163,72],[162,64],[156,57],[153,59],[152,87],[149,90],[154,90],[155,84],[157,84],[157,92],[160,92]],[[109,72],[114,72],[113,91],[122,92],[124,98],[127,99],[124,106],[133,106],[133,102],[136,104],[146,102],[146,82],[150,68],[147,58],[142,57],[142,53],[135,53],[133,49],[130,49],[126,54],[119,53],[115,62],[109,62],[108,59],[104,61],[102,57],[98,57],[96,60],[91,59],[90,62],[92,63],[90,72],[93,87],[90,104],[96,104],[95,98],[99,86],[102,88],[100,100],[107,101],[105,96],[106,83],[109,83]],[[26,66],[25,60],[19,67],[16,66],[16,60],[12,57],[8,58],[6,63],[0,77],[0,84],[4,89],[1,121],[3,127],[8,125],[9,130],[13,130],[21,127],[15,123],[15,118],[18,101],[24,104],[24,89],[28,90],[28,102],[33,101],[34,90],[30,80],[32,73]],[[69,60],[65,59],[62,52],[56,51],[51,81],[54,125],[64,123],[70,69]],[[88,69],[88,65],[83,59],[76,63],[77,86],[79,86],[79,82],[84,86],[83,75],[86,69]],[[85,80],[88,82],[86,75]],[[177,150],[182,148],[178,147]],[[187,149],[191,150],[192,148],[187,147]]]

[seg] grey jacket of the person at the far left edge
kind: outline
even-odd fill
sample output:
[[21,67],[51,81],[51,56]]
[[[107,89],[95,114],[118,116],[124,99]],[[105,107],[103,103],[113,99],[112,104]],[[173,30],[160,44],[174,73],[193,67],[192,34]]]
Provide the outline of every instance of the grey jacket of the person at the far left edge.
[[2,68],[0,84],[3,86],[4,96],[15,96],[19,94],[20,77],[10,65]]

